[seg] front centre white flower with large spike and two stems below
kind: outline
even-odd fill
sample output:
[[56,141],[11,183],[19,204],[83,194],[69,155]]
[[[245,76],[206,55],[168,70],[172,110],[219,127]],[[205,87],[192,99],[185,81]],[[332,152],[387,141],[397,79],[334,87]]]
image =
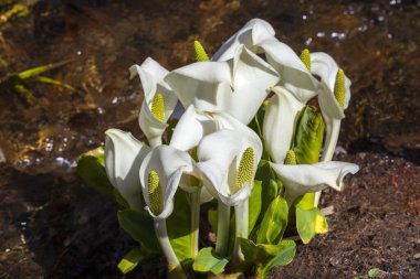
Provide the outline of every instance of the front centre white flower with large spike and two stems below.
[[[207,190],[219,200],[216,251],[224,255],[229,240],[230,206],[235,207],[235,236],[248,237],[248,198],[261,160],[262,142],[244,126],[240,131],[222,129],[206,136],[198,147],[199,163]],[[234,258],[243,259],[239,238]]]

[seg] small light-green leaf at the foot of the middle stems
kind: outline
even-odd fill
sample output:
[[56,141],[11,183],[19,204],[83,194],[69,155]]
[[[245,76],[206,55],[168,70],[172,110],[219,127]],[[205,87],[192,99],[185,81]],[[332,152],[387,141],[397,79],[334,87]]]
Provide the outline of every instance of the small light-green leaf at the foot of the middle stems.
[[216,255],[213,248],[207,247],[202,248],[198,253],[192,264],[192,269],[198,272],[212,272],[213,275],[220,275],[224,271],[224,267],[228,262],[228,259]]

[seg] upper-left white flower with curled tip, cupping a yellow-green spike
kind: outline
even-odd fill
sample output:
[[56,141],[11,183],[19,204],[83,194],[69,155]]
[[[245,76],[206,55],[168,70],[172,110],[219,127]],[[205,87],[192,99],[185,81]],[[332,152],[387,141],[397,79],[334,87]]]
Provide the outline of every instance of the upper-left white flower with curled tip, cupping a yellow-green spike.
[[168,127],[166,124],[177,105],[177,97],[164,82],[169,73],[153,58],[147,58],[139,65],[129,68],[130,78],[136,73],[139,75],[145,99],[141,104],[138,121],[143,132],[146,135],[150,147],[161,144],[161,135]]

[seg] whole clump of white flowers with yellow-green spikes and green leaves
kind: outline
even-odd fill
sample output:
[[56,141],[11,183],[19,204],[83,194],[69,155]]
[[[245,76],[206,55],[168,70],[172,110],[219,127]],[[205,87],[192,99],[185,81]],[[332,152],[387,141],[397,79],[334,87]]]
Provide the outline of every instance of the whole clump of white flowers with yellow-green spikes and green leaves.
[[[196,41],[196,63],[169,72],[147,58],[129,68],[144,89],[147,143],[109,129],[103,164],[127,206],[120,225],[141,243],[122,270],[165,255],[172,277],[219,273],[228,262],[231,270],[256,265],[263,275],[294,256],[287,224],[303,243],[327,230],[315,192],[340,191],[358,171],[330,161],[350,81],[328,54],[296,55],[274,35],[254,19],[211,58]],[[214,249],[199,250],[203,214]]]

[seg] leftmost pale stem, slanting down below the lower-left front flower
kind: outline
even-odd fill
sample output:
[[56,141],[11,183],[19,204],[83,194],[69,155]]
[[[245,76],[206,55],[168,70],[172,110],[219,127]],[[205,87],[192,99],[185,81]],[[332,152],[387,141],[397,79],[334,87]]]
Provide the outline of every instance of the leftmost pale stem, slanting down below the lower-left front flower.
[[161,250],[168,261],[169,277],[174,279],[185,278],[182,267],[169,243],[168,232],[166,229],[166,219],[155,218],[155,233]]

